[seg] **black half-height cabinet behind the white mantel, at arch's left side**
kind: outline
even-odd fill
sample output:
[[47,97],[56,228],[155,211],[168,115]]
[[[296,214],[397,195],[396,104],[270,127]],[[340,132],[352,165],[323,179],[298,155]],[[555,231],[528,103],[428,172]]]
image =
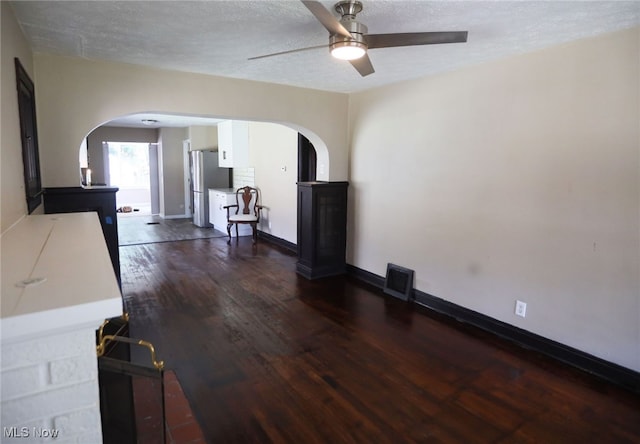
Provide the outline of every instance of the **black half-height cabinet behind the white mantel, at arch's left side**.
[[116,192],[118,188],[97,187],[61,187],[44,190],[44,212],[78,213],[96,211],[100,218],[113,271],[116,273],[118,285],[120,280],[120,251],[118,250],[118,215],[116,213]]

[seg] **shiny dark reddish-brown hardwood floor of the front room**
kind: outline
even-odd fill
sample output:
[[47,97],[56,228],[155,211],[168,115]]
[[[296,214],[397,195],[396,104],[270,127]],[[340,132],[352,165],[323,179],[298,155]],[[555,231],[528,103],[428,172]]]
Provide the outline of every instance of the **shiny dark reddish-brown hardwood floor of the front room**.
[[640,442],[640,397],[250,238],[120,248],[210,443]]

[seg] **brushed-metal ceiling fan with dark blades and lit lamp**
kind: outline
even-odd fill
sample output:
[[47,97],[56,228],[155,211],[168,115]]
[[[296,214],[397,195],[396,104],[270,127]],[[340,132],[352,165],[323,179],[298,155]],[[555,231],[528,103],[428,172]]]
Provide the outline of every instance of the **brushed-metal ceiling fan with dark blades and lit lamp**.
[[301,1],[329,31],[329,44],[281,51],[251,57],[249,60],[329,47],[331,55],[342,60],[348,60],[364,77],[374,73],[373,65],[367,54],[369,49],[434,45],[439,43],[464,43],[467,41],[467,31],[367,34],[367,27],[356,20],[356,15],[362,11],[362,2],[358,0],[342,0],[336,3],[334,8],[341,16],[340,20],[338,20],[319,1]]

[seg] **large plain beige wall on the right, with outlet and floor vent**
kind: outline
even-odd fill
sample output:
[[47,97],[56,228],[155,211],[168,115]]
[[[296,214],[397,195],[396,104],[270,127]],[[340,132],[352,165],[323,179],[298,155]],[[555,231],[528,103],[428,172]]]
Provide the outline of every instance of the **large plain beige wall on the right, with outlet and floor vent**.
[[639,41],[352,95],[348,262],[640,370]]

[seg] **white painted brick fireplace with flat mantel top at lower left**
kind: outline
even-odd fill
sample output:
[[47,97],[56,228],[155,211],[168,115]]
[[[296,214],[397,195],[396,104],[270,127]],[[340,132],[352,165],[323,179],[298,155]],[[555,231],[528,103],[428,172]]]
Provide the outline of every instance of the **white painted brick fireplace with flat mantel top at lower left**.
[[122,298],[97,214],[26,216],[0,242],[0,441],[101,441],[95,330]]

